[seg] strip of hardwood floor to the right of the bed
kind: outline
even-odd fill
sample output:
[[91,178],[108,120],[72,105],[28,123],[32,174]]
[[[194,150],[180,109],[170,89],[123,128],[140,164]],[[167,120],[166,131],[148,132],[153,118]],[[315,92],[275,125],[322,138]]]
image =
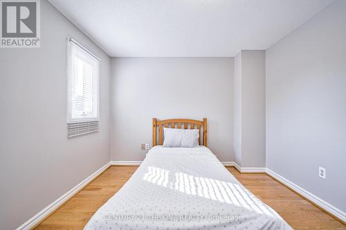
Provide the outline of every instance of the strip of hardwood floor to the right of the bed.
[[318,209],[265,173],[239,173],[227,167],[246,189],[279,213],[293,229],[346,229],[331,215]]

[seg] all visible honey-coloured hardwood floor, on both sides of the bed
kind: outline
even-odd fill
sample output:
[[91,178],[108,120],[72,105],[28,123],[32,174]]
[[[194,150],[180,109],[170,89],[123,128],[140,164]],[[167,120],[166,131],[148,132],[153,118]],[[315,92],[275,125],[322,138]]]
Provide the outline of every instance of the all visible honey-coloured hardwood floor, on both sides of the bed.
[[[111,166],[35,229],[83,229],[93,213],[127,182],[136,169],[137,166]],[[275,209],[293,229],[346,230],[343,223],[268,175],[239,173],[233,167],[227,169],[248,190]]]

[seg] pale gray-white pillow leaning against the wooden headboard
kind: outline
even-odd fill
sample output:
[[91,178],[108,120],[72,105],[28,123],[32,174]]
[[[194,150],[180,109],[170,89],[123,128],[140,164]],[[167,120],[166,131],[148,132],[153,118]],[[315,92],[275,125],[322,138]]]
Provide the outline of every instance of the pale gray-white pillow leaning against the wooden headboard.
[[199,129],[163,128],[164,147],[194,148],[198,146]]

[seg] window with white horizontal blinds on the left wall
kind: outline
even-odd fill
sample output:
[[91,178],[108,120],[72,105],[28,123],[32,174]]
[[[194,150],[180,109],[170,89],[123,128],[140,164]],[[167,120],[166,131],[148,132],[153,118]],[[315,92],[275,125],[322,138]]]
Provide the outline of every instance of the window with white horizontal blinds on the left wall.
[[67,39],[68,136],[98,131],[100,59]]

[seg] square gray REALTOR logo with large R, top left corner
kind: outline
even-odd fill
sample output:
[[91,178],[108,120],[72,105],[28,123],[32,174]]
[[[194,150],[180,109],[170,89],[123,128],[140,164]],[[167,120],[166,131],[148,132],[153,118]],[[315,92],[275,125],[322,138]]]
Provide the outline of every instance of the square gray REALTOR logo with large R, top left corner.
[[38,48],[39,0],[0,0],[2,48]]

